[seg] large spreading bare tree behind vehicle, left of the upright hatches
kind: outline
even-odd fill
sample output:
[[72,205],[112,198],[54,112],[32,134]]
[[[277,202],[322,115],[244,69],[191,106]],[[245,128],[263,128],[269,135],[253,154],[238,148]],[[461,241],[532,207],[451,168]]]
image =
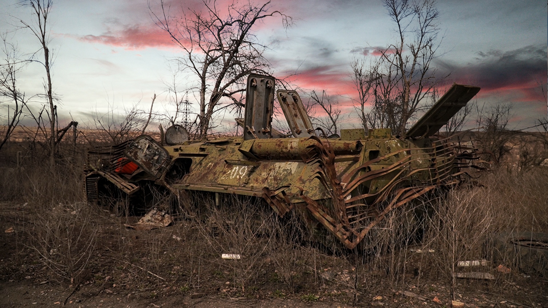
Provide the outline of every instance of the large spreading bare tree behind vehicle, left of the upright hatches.
[[[162,12],[152,11],[156,24],[168,32],[183,50],[181,66],[198,79],[194,89],[199,102],[198,136],[204,137],[212,125],[214,113],[230,105],[242,105],[249,73],[266,73],[268,61],[262,55],[265,46],[257,42],[252,28],[258,21],[281,16],[284,25],[290,18],[275,10],[270,2],[254,5],[233,2],[219,9],[215,0],[203,0],[204,10],[183,10],[182,16],[169,16],[169,7],[160,1]],[[221,99],[227,98],[227,104]]]

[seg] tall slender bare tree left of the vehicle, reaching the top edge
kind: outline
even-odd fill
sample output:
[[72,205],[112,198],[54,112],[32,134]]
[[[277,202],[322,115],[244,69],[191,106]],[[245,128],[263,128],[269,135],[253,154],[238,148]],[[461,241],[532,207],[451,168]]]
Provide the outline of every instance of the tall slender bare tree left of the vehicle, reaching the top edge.
[[25,5],[28,5],[31,7],[31,12],[33,15],[33,22],[26,22],[21,20],[21,23],[24,25],[25,28],[28,28],[32,32],[32,34],[38,39],[38,41],[41,44],[42,52],[44,53],[44,61],[38,61],[40,62],[44,68],[46,73],[46,81],[44,84],[45,88],[45,98],[48,101],[49,104],[49,162],[50,166],[53,167],[55,165],[55,148],[57,145],[57,138],[56,138],[56,123],[57,123],[57,106],[54,105],[53,101],[53,90],[52,90],[52,76],[51,76],[51,69],[52,69],[52,62],[50,60],[50,50],[48,48],[48,44],[50,42],[49,38],[49,13],[52,10],[53,2],[52,0],[27,0],[23,2]]

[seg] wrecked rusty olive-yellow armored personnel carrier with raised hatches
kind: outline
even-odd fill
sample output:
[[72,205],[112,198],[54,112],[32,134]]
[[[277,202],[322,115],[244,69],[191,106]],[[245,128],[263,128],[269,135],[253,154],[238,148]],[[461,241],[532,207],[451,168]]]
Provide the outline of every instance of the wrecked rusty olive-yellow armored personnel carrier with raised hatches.
[[[275,92],[271,76],[250,75],[243,136],[188,140],[167,130],[161,145],[150,136],[88,151],[89,201],[116,187],[130,196],[145,185],[175,195],[204,191],[262,198],[279,216],[296,211],[313,232],[331,233],[355,248],[384,216],[413,199],[458,181],[470,151],[435,136],[478,93],[454,84],[404,136],[390,129],[341,130],[326,138],[312,127],[299,94]],[[271,127],[277,96],[292,134]]]

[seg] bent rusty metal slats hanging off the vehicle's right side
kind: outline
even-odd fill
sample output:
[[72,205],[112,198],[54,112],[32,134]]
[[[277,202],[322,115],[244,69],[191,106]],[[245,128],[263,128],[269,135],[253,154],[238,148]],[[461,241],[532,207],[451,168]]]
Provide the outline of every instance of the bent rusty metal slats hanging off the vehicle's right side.
[[[312,215],[348,248],[356,247],[391,210],[437,187],[456,184],[458,176],[464,174],[459,171],[461,168],[479,168],[471,164],[478,160],[477,149],[470,143],[463,145],[460,140],[445,138],[433,141],[429,147],[402,149],[372,159],[338,180],[333,149],[328,142],[317,141],[311,146],[312,155],[307,163],[318,164],[316,177],[332,193],[332,202],[326,206],[302,193],[300,197]],[[371,169],[381,161],[391,164]],[[425,162],[428,167],[416,168],[419,164],[425,166]],[[388,182],[374,191],[372,186],[365,186],[378,179]],[[386,205],[387,200],[391,201]]]

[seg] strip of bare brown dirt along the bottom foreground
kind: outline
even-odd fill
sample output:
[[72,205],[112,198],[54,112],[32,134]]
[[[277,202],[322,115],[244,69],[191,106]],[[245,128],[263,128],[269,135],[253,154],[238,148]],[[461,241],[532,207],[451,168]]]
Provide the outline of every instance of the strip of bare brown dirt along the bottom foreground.
[[[443,299],[439,293],[420,292],[419,296],[428,296],[426,301],[410,298],[403,294],[388,292],[383,295],[365,295],[357,303],[341,303],[330,298],[319,298],[314,302],[307,302],[298,296],[296,298],[230,298],[222,294],[198,295],[193,298],[190,294],[170,292],[169,287],[163,287],[165,294],[158,294],[150,298],[148,292],[140,290],[121,290],[116,288],[89,288],[83,287],[70,298],[73,288],[67,289],[49,282],[2,281],[0,282],[0,298],[2,307],[59,307],[68,298],[68,307],[449,307],[448,303],[436,303],[434,298]],[[545,282],[545,284],[548,282]],[[469,292],[459,294],[459,299],[466,307],[547,307],[548,296],[546,286],[535,288],[529,283],[522,286],[515,285],[516,292],[511,294],[495,294],[487,292]],[[518,291],[519,290],[519,291]],[[543,292],[543,293],[538,293]],[[417,294],[417,293],[415,293]],[[379,299],[380,296],[382,299]],[[376,298],[376,299],[375,299]]]

